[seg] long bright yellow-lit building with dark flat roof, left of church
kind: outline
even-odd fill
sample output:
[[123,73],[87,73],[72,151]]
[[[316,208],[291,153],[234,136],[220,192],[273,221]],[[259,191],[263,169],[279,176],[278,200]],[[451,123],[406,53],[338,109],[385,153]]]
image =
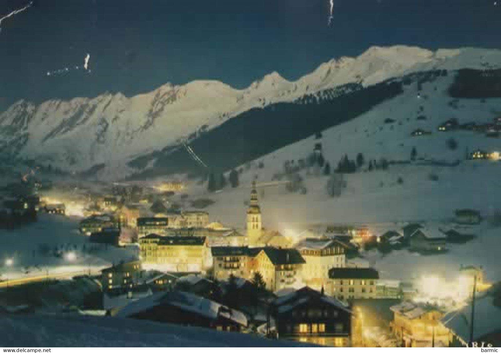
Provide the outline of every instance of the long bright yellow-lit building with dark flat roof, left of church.
[[143,263],[154,263],[173,272],[200,272],[208,256],[204,236],[161,236],[149,234],[139,239]]

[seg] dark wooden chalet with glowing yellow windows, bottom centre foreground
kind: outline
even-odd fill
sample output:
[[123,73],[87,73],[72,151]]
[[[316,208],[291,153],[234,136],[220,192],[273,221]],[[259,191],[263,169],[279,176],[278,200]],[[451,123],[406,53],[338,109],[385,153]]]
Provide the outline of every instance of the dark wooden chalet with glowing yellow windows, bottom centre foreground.
[[279,338],[349,347],[351,310],[323,291],[303,287],[272,303]]

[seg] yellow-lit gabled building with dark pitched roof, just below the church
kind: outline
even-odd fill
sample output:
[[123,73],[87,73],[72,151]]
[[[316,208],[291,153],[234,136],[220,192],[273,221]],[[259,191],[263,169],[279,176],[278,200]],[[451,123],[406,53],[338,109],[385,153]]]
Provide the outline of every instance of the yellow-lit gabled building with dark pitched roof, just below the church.
[[260,272],[267,288],[272,291],[294,286],[306,263],[297,249],[254,247],[249,248],[249,253],[250,275]]

